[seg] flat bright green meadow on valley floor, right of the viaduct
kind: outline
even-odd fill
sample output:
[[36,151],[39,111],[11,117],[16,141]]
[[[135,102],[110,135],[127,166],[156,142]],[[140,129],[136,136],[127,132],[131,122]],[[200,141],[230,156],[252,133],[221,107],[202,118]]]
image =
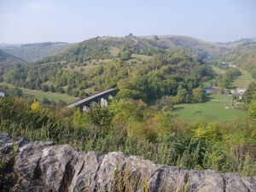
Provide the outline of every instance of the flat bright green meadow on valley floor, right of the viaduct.
[[[207,102],[195,104],[177,104],[174,106],[172,115],[177,115],[181,119],[186,119],[190,123],[198,120],[206,122],[223,122],[231,119],[244,119],[247,112],[236,110],[231,107],[230,96],[213,94],[207,96]],[[200,113],[196,113],[199,112]]]

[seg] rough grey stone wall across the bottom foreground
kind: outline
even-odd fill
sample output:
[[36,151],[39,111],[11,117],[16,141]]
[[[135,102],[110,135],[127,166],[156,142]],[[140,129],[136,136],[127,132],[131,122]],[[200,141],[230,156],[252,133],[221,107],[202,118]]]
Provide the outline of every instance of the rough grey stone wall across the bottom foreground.
[[256,191],[256,177],[183,170],[120,152],[79,152],[0,132],[0,191]]

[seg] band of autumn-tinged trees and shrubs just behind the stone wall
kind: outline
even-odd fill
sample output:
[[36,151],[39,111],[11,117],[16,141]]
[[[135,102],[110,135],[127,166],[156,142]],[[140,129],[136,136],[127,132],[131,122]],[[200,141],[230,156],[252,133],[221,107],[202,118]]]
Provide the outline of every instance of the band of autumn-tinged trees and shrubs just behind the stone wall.
[[[256,100],[255,100],[256,101]],[[69,143],[79,150],[122,151],[186,169],[256,175],[255,119],[189,125],[142,100],[117,99],[90,110],[28,105],[0,97],[0,130],[31,141]]]

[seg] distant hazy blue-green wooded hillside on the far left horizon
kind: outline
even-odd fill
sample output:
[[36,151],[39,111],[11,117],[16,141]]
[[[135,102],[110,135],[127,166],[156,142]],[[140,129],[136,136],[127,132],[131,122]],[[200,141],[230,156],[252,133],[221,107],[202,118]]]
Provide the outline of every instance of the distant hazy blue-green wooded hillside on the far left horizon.
[[[2,44],[3,45],[3,44]],[[63,50],[72,47],[74,44],[66,43],[40,43],[40,44],[21,44],[20,46],[10,46],[6,44],[5,47],[1,47],[4,52],[9,55],[14,55],[24,61],[37,61],[49,55],[56,55]]]

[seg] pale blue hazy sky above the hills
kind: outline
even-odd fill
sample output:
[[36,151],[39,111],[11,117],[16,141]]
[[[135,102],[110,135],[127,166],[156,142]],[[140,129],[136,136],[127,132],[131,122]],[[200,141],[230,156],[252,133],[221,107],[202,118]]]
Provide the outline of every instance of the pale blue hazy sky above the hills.
[[0,0],[0,44],[96,36],[256,37],[256,0]]

